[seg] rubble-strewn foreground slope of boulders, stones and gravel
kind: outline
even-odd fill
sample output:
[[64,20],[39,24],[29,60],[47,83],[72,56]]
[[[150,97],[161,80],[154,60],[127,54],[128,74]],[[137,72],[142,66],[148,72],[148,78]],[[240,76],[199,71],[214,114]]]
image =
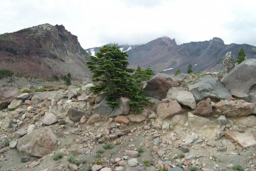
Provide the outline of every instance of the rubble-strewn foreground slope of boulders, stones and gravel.
[[242,62],[224,76],[226,87],[218,73],[156,74],[144,85],[155,104],[141,114],[124,98],[106,105],[89,91],[92,83],[0,89],[0,169],[255,170],[255,104],[234,98],[230,87],[244,81],[251,89],[255,79],[232,73],[255,69],[255,59]]

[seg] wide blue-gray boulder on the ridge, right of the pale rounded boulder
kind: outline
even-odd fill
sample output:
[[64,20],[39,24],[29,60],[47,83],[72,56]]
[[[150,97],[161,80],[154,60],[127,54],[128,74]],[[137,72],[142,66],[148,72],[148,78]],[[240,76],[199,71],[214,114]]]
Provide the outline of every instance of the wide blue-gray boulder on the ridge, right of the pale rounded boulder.
[[217,77],[203,76],[188,84],[188,90],[194,95],[196,101],[210,98],[213,101],[228,100],[230,92],[223,86]]

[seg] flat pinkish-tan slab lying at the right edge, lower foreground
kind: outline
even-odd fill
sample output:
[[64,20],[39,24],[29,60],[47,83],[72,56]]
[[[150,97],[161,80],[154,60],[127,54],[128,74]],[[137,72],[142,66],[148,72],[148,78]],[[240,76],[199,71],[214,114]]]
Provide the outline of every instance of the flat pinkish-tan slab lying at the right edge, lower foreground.
[[249,146],[256,146],[256,141],[253,137],[252,133],[240,133],[236,131],[226,131],[224,132],[226,138],[232,139],[236,141],[240,146],[243,148],[249,147]]

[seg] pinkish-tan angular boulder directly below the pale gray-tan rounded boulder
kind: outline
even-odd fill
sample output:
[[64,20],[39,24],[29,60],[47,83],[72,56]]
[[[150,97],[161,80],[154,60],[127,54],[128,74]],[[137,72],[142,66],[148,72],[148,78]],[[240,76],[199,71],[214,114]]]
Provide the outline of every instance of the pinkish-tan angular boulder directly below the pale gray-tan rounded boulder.
[[176,100],[161,100],[157,106],[157,115],[164,119],[184,112],[180,104]]

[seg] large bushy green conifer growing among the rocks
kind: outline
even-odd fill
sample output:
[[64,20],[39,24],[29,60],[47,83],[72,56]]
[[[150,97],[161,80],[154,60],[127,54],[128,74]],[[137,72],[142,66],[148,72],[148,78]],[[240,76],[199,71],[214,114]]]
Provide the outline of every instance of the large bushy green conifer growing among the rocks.
[[117,106],[120,97],[128,97],[129,104],[137,107],[136,112],[141,112],[150,101],[137,85],[132,75],[134,70],[128,68],[126,57],[127,53],[122,52],[116,44],[105,45],[95,56],[90,56],[91,61],[87,65],[93,73],[92,81],[98,83],[90,90],[96,94],[106,93],[106,101],[110,106]]

